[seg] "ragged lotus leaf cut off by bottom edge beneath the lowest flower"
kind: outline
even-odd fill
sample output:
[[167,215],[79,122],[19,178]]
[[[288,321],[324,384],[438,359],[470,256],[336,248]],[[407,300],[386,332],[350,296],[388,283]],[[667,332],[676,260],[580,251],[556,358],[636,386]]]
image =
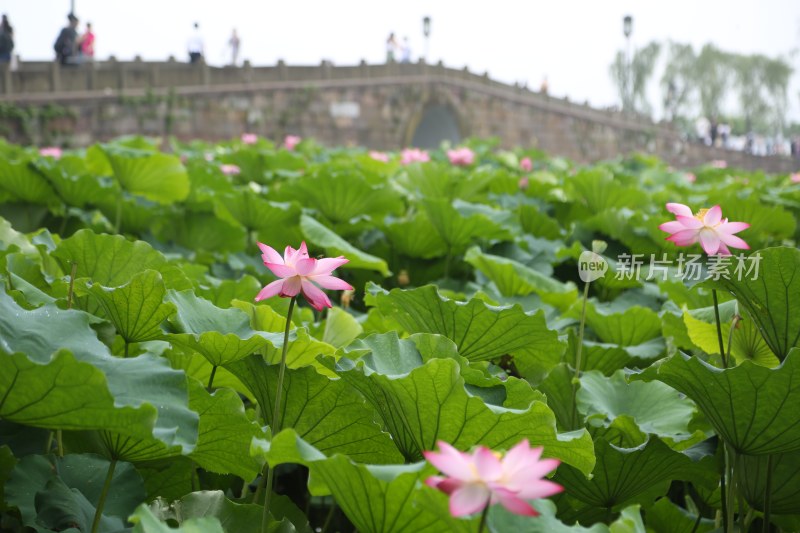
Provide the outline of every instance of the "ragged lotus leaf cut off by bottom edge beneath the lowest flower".
[[[493,506],[489,510],[487,518],[489,531],[495,533],[506,531],[518,533],[645,533],[646,531],[638,505],[623,509],[620,517],[610,526],[598,523],[586,528],[577,523],[568,526],[556,518],[556,505],[550,500],[535,500],[531,504],[539,513],[538,516],[518,515],[502,505]],[[649,525],[649,514],[647,518]]]

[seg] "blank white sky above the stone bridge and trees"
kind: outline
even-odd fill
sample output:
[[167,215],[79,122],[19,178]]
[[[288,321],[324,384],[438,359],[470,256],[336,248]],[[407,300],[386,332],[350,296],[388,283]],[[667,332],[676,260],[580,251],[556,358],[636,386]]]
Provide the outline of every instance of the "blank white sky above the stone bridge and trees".
[[[242,58],[255,65],[370,63],[385,57],[390,31],[408,36],[413,57],[424,50],[422,17],[432,19],[430,57],[448,66],[538,88],[595,106],[617,103],[608,66],[623,49],[622,18],[633,16],[632,44],[706,42],[740,53],[790,56],[800,48],[800,0],[74,0],[81,29],[92,22],[99,58],[185,60],[192,24],[200,23],[207,60],[228,55],[232,28]],[[50,59],[70,0],[0,0],[23,59]],[[665,56],[662,52],[662,59]],[[800,54],[790,62],[790,116],[800,120]],[[657,75],[660,77],[660,75]],[[657,80],[656,80],[657,81]],[[660,109],[660,93],[650,91]]]

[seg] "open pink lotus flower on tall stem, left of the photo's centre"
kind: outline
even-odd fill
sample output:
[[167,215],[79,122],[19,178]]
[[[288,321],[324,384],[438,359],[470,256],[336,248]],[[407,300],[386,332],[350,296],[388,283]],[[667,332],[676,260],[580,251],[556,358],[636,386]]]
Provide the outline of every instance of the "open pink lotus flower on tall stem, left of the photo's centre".
[[328,259],[309,257],[305,242],[300,244],[298,250],[287,246],[283,257],[266,244],[258,243],[258,247],[261,249],[264,265],[281,279],[261,289],[256,296],[257,302],[276,295],[293,298],[302,293],[314,309],[322,311],[325,307],[333,306],[319,287],[335,291],[353,290],[349,283],[331,276],[334,269],[349,261],[343,256]]

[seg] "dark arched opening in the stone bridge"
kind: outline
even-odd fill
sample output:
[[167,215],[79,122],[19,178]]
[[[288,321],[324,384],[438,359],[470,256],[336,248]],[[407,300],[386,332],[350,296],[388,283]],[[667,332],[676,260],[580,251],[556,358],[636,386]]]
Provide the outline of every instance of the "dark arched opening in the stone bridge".
[[438,148],[442,141],[457,145],[467,136],[465,121],[457,102],[442,94],[430,94],[411,113],[404,146]]

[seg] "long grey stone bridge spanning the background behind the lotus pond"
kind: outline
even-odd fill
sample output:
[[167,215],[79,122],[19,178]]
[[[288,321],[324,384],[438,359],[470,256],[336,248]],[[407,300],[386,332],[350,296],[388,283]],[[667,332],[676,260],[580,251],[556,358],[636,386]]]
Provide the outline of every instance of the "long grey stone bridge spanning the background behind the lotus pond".
[[634,151],[676,166],[724,159],[787,172],[788,157],[756,157],[687,142],[666,124],[599,110],[424,62],[216,68],[115,60],[62,67],[24,62],[0,79],[0,135],[87,145],[128,134],[208,140],[255,132],[376,149],[497,137],[580,162]]

